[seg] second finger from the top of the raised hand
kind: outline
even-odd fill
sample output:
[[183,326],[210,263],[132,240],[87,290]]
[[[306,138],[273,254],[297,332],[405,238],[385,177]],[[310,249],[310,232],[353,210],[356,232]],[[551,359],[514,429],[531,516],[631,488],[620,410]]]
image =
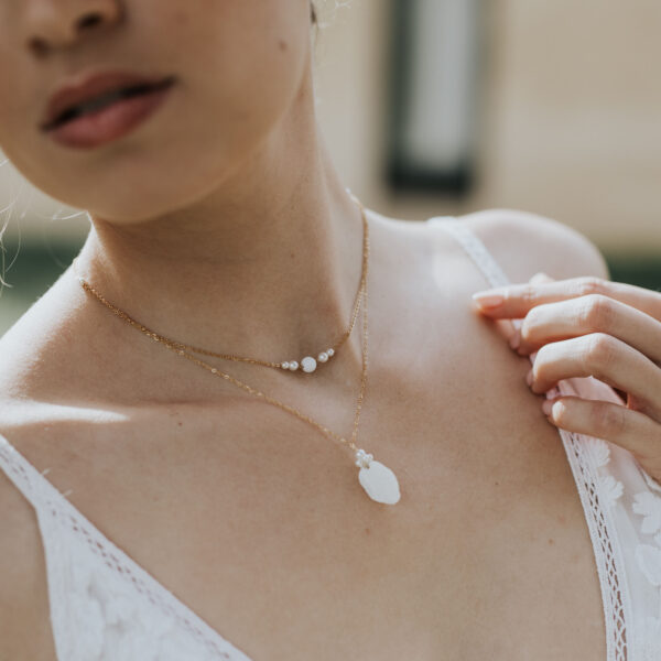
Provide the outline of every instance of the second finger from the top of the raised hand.
[[602,294],[533,307],[519,328],[517,350],[532,354],[549,342],[589,333],[613,335],[661,366],[661,322]]

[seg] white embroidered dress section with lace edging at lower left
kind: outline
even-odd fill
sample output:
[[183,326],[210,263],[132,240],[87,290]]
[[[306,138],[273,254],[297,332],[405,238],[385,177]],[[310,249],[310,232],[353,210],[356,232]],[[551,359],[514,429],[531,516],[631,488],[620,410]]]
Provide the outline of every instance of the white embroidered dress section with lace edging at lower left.
[[0,435],[0,468],[36,510],[61,661],[251,661],[95,528]]

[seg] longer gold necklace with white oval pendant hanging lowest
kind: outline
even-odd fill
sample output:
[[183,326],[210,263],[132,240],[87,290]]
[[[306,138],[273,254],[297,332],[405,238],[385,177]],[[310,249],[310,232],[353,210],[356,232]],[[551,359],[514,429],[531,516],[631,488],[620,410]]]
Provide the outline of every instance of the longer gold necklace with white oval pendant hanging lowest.
[[[358,203],[358,204],[360,204],[360,203]],[[136,319],[130,317],[126,312],[123,312],[119,307],[115,306],[109,301],[107,301],[97,290],[95,290],[77,272],[76,272],[76,277],[77,277],[78,281],[80,282],[80,284],[83,285],[84,290],[90,292],[93,295],[96,296],[96,299],[99,302],[101,302],[104,305],[106,305],[106,307],[111,310],[117,316],[119,316],[123,321],[130,323],[133,327],[141,330],[148,337],[151,337],[153,340],[159,342],[160,344],[164,345],[169,349],[175,351],[178,356],[183,356],[184,358],[195,362],[199,367],[204,367],[210,373],[213,373],[217,377],[223,377],[230,383],[234,383],[238,388],[246,390],[250,394],[253,394],[256,397],[261,397],[268,403],[273,404],[273,405],[282,409],[283,411],[286,411],[288,413],[295,415],[300,420],[303,420],[304,422],[306,422],[306,423],[311,424],[312,426],[314,426],[315,429],[317,429],[322,434],[329,437],[330,440],[338,441],[339,443],[343,443],[343,444],[347,445],[348,447],[350,447],[355,452],[355,464],[359,468],[358,481],[360,483],[360,486],[365,489],[367,495],[372,500],[376,500],[377,502],[382,502],[386,505],[394,505],[395,502],[398,502],[400,500],[400,488],[399,488],[399,483],[398,483],[397,476],[390,468],[388,468],[388,466],[381,464],[380,462],[375,460],[373,455],[368,454],[365,449],[359,448],[356,445],[356,440],[358,436],[358,424],[359,424],[359,420],[360,420],[360,410],[362,408],[362,398],[365,394],[365,387],[367,383],[367,346],[368,346],[367,274],[368,274],[368,268],[369,268],[368,267],[368,262],[369,262],[369,229],[368,229],[367,217],[365,214],[365,207],[362,207],[362,205],[360,205],[360,208],[361,208],[362,220],[364,220],[364,223],[362,223],[362,227],[364,227],[364,271],[362,271],[362,279],[361,279],[359,295],[357,296],[357,299],[358,299],[358,301],[362,301],[362,370],[361,370],[361,376],[360,376],[360,391],[358,393],[358,398],[356,401],[356,412],[354,414],[354,429],[351,431],[351,440],[350,441],[347,441],[344,436],[340,436],[340,435],[336,434],[335,432],[330,431],[327,426],[319,424],[318,422],[316,422],[308,415],[301,413],[294,407],[291,407],[289,404],[280,402],[275,398],[272,398],[272,397],[261,392],[260,390],[257,390],[257,389],[252,388],[251,386],[248,386],[247,383],[243,383],[242,381],[235,379],[230,375],[227,375],[227,373],[220,371],[218,368],[209,365],[208,362],[205,362],[204,360],[199,360],[195,356],[192,356],[191,354],[186,353],[186,350],[184,349],[184,348],[189,348],[187,345],[184,345],[183,343],[180,343],[180,342],[171,340],[171,339],[149,329],[147,326],[142,325],[140,322],[137,322]],[[74,260],[74,262],[75,262],[75,260]],[[74,271],[75,271],[75,267],[74,267]],[[192,349],[192,350],[197,350],[197,349]],[[210,353],[204,351],[204,350],[202,350],[202,353],[210,354]],[[210,355],[214,355],[214,354],[210,354]]]

